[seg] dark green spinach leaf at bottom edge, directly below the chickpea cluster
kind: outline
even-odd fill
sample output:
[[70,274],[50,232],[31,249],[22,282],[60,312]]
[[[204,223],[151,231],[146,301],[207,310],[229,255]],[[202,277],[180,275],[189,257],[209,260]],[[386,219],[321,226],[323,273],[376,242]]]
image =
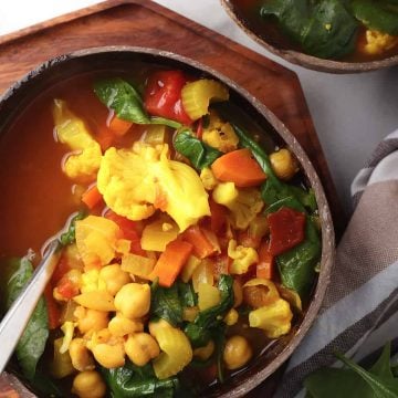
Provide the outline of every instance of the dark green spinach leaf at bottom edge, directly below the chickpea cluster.
[[143,367],[135,366],[130,362],[125,366],[106,369],[102,374],[111,390],[112,398],[136,398],[136,397],[174,397],[179,388],[177,377],[159,380],[151,365]]

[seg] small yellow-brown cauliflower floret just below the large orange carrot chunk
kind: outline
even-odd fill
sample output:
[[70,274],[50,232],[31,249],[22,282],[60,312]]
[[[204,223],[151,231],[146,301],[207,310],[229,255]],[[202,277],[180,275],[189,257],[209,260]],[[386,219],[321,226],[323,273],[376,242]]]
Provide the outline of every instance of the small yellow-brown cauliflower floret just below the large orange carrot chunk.
[[238,189],[233,182],[220,182],[212,192],[217,203],[226,206],[231,211],[234,228],[244,230],[262,210],[264,202],[255,188]]

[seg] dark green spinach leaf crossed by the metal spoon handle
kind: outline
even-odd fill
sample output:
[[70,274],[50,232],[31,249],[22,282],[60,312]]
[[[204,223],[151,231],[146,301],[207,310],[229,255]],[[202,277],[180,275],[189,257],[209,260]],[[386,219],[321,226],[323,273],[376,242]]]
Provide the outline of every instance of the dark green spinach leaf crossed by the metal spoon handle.
[[[13,274],[7,283],[7,307],[17,300],[28,281],[32,277],[33,266],[27,259],[12,259]],[[35,369],[49,337],[49,318],[45,302],[40,298],[15,349],[18,363],[29,380],[34,379]]]

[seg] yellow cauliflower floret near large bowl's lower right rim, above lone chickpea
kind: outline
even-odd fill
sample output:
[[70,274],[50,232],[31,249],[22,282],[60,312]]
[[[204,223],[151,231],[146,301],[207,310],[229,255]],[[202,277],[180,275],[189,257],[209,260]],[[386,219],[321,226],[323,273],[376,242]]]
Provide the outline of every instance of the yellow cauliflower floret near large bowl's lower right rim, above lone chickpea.
[[249,313],[250,327],[258,327],[265,332],[269,338],[277,338],[291,329],[293,314],[289,303],[279,298],[273,303]]

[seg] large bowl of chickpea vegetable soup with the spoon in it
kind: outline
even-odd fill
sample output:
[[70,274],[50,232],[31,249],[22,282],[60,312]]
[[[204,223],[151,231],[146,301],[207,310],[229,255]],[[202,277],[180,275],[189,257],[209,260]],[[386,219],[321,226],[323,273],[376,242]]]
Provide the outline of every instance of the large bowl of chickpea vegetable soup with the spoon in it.
[[158,50],[82,50],[1,97],[0,137],[2,313],[59,241],[8,367],[39,396],[240,397],[307,332],[334,258],[327,201],[229,78]]

